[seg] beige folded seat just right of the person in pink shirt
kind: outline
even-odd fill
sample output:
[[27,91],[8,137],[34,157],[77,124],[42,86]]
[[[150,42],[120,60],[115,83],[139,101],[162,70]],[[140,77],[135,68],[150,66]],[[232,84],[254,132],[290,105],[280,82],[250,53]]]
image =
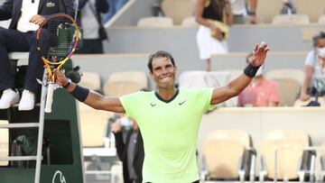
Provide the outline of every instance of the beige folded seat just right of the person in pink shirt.
[[279,86],[279,106],[292,106],[302,87],[303,71],[300,69],[273,69],[268,71],[265,77],[273,80]]

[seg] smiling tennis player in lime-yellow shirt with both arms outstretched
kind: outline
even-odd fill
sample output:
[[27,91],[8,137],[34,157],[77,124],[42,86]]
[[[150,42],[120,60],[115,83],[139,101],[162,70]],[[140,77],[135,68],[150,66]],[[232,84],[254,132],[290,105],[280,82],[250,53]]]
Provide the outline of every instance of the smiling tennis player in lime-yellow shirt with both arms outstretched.
[[199,183],[196,144],[203,114],[212,105],[237,96],[252,80],[269,50],[255,45],[244,73],[225,87],[177,89],[177,67],[172,55],[157,51],[149,57],[148,69],[157,85],[152,92],[114,97],[101,96],[72,83],[60,71],[57,82],[79,101],[95,109],[125,113],[138,122],[144,138],[143,182]]

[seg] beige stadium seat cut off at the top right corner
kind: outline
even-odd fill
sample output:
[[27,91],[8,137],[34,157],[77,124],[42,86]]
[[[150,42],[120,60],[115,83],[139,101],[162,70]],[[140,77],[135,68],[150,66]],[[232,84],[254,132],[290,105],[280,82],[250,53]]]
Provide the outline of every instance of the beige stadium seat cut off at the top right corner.
[[317,23],[320,14],[324,14],[324,0],[294,0],[293,5],[298,14],[307,14],[311,23]]

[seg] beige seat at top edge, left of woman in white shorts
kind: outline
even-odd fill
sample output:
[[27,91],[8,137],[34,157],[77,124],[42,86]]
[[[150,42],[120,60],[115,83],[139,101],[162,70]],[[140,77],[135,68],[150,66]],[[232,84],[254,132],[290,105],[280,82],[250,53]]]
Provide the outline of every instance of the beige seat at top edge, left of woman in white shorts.
[[193,15],[194,3],[192,0],[163,0],[163,14],[171,17],[173,23],[180,25],[182,20]]

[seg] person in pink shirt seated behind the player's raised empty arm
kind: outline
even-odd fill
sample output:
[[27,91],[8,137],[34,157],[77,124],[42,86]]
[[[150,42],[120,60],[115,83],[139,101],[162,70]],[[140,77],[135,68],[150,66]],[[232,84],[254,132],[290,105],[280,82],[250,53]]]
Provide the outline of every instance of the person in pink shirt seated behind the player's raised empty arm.
[[[246,57],[249,58],[253,54]],[[265,65],[262,65],[256,72],[255,78],[238,96],[239,106],[276,106],[279,104],[279,89],[274,81],[263,76]]]

